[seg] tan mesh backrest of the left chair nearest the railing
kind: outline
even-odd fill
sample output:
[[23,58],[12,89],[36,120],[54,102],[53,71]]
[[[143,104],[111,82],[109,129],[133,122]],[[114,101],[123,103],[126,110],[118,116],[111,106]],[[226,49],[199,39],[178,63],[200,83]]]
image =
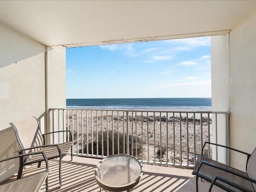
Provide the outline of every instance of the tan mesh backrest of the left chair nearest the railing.
[[17,140],[22,149],[44,144],[43,135],[35,117],[12,122],[10,125],[14,128]]

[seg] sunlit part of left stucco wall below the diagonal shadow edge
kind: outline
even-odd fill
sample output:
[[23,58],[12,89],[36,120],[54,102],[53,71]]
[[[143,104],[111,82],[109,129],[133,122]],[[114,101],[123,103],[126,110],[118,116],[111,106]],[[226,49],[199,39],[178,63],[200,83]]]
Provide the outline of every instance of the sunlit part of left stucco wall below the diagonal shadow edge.
[[9,122],[44,114],[44,53],[0,68],[0,77],[8,87],[8,97],[0,99],[0,130]]

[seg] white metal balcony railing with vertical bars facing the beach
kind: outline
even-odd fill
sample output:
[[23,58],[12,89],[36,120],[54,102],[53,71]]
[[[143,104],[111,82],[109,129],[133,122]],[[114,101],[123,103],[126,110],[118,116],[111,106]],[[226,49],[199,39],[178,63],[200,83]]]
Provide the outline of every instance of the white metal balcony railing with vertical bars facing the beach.
[[[218,143],[219,118],[226,119],[229,129],[230,112],[51,108],[48,114],[50,131],[71,130],[74,155],[104,158],[124,153],[145,163],[189,167],[205,141]],[[70,140],[67,135],[52,140],[62,138]],[[226,140],[228,144],[229,134]],[[218,148],[212,152],[206,145],[204,153],[218,160]]]

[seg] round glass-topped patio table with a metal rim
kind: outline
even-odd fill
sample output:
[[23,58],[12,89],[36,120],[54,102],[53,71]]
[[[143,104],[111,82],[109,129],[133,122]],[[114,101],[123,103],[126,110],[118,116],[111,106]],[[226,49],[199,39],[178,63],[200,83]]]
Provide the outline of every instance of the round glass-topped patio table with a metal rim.
[[104,190],[130,191],[142,177],[142,165],[133,156],[116,154],[104,158],[95,169],[95,180]]

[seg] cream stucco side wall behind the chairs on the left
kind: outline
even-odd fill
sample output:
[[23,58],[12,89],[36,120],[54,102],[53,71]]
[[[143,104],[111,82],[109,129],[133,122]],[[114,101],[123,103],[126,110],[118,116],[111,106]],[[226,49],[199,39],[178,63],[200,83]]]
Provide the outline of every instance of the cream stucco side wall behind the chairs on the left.
[[[0,24],[0,158],[19,149],[9,122],[45,114],[45,46]],[[12,166],[15,165],[15,166]],[[18,170],[18,159],[1,164],[0,180]],[[10,169],[9,169],[10,168]],[[1,173],[0,173],[1,174]]]

